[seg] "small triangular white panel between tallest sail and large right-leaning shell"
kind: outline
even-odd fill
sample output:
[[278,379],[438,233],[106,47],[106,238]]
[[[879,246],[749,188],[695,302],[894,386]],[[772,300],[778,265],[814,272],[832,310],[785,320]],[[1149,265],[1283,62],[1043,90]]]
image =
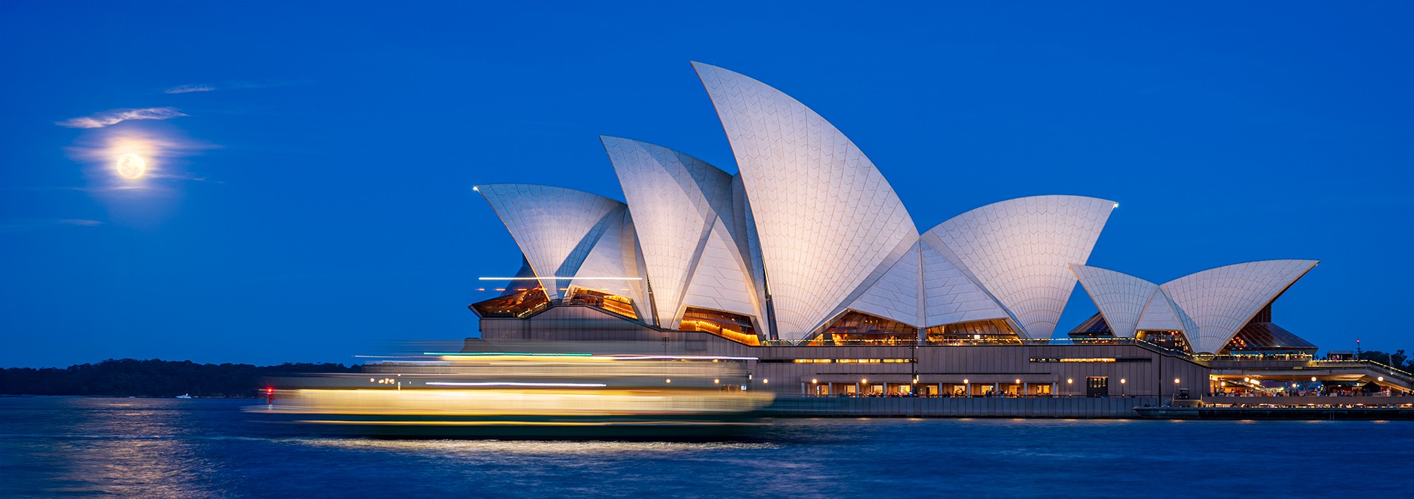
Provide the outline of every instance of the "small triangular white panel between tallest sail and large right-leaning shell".
[[1008,318],[1007,311],[963,270],[923,240],[923,327]]

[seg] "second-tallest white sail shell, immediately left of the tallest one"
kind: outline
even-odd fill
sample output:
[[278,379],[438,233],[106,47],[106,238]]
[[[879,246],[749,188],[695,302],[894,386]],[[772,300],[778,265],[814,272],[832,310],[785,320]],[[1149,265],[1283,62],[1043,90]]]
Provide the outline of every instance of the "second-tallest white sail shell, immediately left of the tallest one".
[[600,139],[633,213],[659,324],[677,328],[689,304],[758,315],[749,274],[727,230],[734,223],[732,177],[666,147]]

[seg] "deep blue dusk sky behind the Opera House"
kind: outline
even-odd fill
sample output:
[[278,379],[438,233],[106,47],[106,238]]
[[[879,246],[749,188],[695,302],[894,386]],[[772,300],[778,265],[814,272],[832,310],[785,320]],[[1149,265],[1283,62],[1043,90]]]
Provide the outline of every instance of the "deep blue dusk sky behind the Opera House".
[[[817,110],[922,229],[1116,199],[1094,266],[1319,259],[1278,324],[1414,348],[1414,11],[1209,7],[4,1],[0,366],[474,335],[477,277],[519,256],[471,185],[622,199],[600,134],[735,171],[689,61]],[[164,92],[184,85],[211,90]],[[57,124],[148,107],[185,116]],[[113,174],[122,137],[157,144],[140,182]],[[1077,288],[1059,329],[1093,311]]]

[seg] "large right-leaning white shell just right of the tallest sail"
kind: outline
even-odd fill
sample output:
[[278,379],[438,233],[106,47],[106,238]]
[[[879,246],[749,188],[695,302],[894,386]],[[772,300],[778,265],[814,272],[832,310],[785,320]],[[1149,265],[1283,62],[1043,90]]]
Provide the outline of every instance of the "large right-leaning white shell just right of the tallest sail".
[[1113,209],[1113,201],[1085,196],[1018,198],[957,215],[923,240],[976,277],[1021,335],[1049,338],[1075,288],[1069,266],[1089,260]]

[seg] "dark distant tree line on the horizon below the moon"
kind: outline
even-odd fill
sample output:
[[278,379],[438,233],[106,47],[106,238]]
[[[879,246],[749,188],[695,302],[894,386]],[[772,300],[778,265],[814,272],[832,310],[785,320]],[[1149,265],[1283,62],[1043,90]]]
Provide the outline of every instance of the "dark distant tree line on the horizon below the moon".
[[69,368],[0,369],[0,394],[88,394],[175,397],[255,397],[263,379],[291,373],[358,373],[339,363],[195,363],[191,360],[103,360]]

